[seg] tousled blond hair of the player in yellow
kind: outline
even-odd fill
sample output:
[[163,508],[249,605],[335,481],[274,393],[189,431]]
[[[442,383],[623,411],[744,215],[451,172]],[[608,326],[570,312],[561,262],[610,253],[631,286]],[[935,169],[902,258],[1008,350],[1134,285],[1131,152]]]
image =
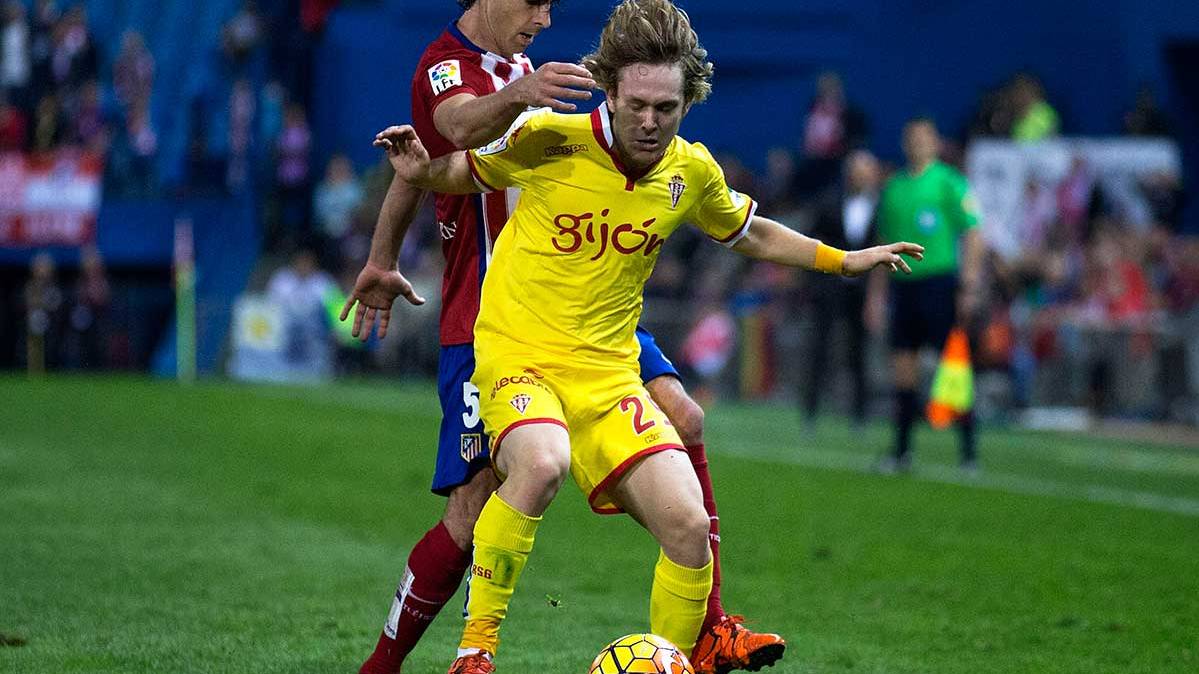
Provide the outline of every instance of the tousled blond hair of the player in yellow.
[[620,71],[632,64],[679,64],[687,103],[700,103],[712,91],[707,49],[699,44],[687,12],[670,0],[623,0],[608,17],[600,46],[583,58],[583,66],[609,92],[616,91]]

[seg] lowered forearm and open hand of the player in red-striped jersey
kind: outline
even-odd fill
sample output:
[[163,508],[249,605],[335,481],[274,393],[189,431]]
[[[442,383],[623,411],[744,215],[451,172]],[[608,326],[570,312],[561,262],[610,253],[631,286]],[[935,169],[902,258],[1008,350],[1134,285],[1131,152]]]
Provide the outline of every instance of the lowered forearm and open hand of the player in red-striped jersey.
[[426,192],[404,182],[397,174],[379,210],[374,235],[370,237],[370,255],[354,282],[354,290],[342,306],[341,320],[350,315],[350,309],[357,305],[354,314],[351,333],[366,341],[378,324],[379,338],[387,336],[387,324],[391,323],[391,306],[396,297],[403,296],[411,305],[423,305],[424,297],[416,294],[412,284],[396,266],[399,247],[404,242],[409,225],[416,216]]

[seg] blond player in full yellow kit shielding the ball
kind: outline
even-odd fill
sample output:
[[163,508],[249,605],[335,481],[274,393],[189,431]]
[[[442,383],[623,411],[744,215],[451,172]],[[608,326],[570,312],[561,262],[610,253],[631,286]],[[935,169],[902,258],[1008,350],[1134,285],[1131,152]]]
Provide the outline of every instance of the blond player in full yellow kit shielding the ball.
[[707,149],[676,136],[711,90],[706,58],[669,0],[625,0],[583,61],[608,97],[590,115],[535,113],[490,146],[434,161],[410,126],[376,140],[417,187],[522,188],[475,324],[474,383],[504,483],[475,526],[451,674],[495,670],[500,622],[568,474],[592,510],[628,512],[658,541],[650,630],[683,652],[695,644],[712,583],[707,514],[677,433],[638,378],[634,336],[671,231],[693,223],[745,255],[827,273],[910,271],[900,254],[922,254],[912,243],[846,253],[757,216]]

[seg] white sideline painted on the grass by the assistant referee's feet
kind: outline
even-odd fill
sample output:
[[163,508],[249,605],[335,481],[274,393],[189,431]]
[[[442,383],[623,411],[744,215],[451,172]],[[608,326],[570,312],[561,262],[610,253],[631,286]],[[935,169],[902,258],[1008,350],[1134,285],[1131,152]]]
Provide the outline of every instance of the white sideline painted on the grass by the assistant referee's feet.
[[[752,457],[781,463],[793,463],[812,468],[848,470],[867,475],[875,473],[873,470],[873,464],[869,463],[873,461],[873,457],[867,458],[863,455],[852,452],[803,450],[794,453],[767,456],[753,452],[729,452],[718,450],[716,453]],[[910,476],[916,480],[939,482],[941,485],[978,487],[983,489],[1007,492],[1011,494],[1052,497],[1076,501],[1089,501],[1093,504],[1137,507],[1187,517],[1199,517],[1199,499],[1169,497],[1155,492],[1137,492],[1133,489],[1104,487],[1101,485],[1073,485],[1070,482],[1028,477],[1011,473],[994,473],[986,469],[983,469],[977,476],[971,477],[962,473],[958,468],[945,464],[926,464],[917,467],[912,469]]]

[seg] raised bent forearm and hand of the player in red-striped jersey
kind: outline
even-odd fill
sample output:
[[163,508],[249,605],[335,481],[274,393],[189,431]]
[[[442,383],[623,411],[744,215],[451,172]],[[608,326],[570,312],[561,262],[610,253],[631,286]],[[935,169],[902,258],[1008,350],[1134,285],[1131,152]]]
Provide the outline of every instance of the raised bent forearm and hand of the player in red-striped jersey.
[[595,79],[578,64],[543,64],[495,94],[459,94],[447,98],[433,113],[433,126],[456,148],[481,148],[507,132],[529,108],[553,108],[573,113],[571,101],[588,101]]

